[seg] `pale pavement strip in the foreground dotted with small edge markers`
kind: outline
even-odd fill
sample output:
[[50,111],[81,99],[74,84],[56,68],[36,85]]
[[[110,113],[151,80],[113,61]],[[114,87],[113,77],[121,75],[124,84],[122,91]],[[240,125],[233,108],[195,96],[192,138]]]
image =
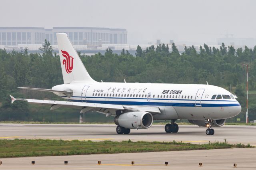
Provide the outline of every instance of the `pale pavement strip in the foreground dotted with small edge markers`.
[[[44,156],[3,158],[0,169],[10,170],[230,170],[256,168],[256,148],[233,148],[216,150],[189,150],[172,152],[146,152],[128,154],[95,154],[74,156]],[[35,161],[35,165],[31,161]],[[68,161],[68,165],[64,165]],[[102,165],[97,165],[101,161]],[[134,165],[131,165],[134,161]],[[168,162],[169,166],[164,166]],[[202,162],[202,167],[199,167]]]

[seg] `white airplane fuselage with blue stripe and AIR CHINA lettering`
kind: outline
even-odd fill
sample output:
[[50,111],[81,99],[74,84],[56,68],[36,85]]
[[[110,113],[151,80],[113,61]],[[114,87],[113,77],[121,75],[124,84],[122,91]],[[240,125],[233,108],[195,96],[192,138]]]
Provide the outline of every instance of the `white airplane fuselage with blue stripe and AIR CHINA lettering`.
[[52,89],[71,89],[72,97],[55,94],[75,102],[157,106],[161,114],[153,115],[155,120],[227,119],[241,111],[234,98],[212,99],[213,95],[232,95],[213,85],[96,82],[63,84]]

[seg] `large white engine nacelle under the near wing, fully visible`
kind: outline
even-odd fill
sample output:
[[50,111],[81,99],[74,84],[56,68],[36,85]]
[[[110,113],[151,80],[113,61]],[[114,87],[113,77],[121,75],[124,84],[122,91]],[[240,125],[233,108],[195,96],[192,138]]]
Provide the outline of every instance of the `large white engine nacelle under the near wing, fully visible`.
[[117,115],[114,119],[116,125],[131,129],[145,129],[151,127],[153,116],[144,111],[134,111]]

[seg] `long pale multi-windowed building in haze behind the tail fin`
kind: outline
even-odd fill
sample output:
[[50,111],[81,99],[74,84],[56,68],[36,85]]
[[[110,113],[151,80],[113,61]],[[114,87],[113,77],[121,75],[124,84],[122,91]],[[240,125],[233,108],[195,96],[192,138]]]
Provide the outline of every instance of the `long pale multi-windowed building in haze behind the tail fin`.
[[0,27],[0,45],[44,44],[49,40],[57,44],[56,33],[68,34],[74,45],[98,46],[101,44],[126,44],[127,31],[120,28],[95,27]]

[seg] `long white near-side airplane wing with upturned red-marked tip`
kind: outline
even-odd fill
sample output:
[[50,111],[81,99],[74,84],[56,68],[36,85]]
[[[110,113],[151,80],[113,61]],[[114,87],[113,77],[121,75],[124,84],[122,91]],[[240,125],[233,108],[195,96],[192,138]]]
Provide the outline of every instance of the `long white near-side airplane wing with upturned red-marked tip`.
[[140,106],[124,106],[124,105],[112,105],[112,104],[101,104],[101,103],[82,103],[72,101],[52,101],[52,100],[37,100],[37,99],[16,99],[10,95],[12,103],[14,101],[27,101],[28,103],[39,103],[50,105],[51,110],[58,109],[62,106],[70,106],[73,108],[81,109],[80,113],[85,113],[90,110],[97,111],[99,113],[116,115],[116,110],[129,110],[129,111],[146,111],[152,114],[161,113],[158,107],[140,107]]

